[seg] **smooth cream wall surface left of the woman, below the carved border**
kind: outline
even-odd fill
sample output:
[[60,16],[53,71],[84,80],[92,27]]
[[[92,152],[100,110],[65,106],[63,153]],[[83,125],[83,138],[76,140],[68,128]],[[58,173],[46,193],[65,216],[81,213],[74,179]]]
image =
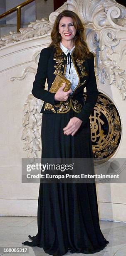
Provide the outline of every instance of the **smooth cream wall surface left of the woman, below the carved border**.
[[[25,79],[13,82],[10,78],[20,76],[28,66],[36,69],[32,56],[42,47],[46,47],[45,41],[37,37],[0,50],[0,215],[37,215],[39,184],[22,184],[21,177],[21,160],[27,157],[21,140],[22,118],[35,74],[29,73]],[[41,157],[41,151],[37,153]]]

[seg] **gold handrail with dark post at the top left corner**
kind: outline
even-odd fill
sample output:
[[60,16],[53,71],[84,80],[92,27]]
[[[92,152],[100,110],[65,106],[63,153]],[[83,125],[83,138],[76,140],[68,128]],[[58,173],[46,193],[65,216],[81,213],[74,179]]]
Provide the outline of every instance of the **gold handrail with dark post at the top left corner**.
[[[35,0],[26,0],[24,3],[21,3],[20,5],[15,6],[14,8],[8,10],[7,12],[0,15],[0,19],[9,15],[10,13],[14,13],[17,11],[17,32],[19,32],[20,29],[20,19],[21,19],[21,8],[25,5],[28,5],[29,3],[32,3]],[[44,0],[47,1],[47,0]]]

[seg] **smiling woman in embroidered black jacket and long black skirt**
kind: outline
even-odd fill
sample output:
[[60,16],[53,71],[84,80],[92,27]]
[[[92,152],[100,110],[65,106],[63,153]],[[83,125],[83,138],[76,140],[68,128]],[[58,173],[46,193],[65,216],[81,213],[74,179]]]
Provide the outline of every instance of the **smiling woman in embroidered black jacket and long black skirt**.
[[[98,90],[94,56],[83,35],[77,14],[64,10],[55,20],[52,43],[41,51],[32,94],[44,101],[42,158],[93,158],[89,116]],[[49,92],[57,74],[72,83],[67,92],[65,83]],[[37,217],[37,235],[22,244],[43,247],[48,254],[95,253],[109,243],[99,226],[95,183],[40,183]]]

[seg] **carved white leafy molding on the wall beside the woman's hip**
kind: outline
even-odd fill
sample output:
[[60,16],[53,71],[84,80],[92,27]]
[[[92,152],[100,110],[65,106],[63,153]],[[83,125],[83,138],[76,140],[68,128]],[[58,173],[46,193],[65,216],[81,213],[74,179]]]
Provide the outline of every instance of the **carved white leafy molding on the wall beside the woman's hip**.
[[42,123],[42,100],[37,100],[32,94],[28,95],[24,105],[24,117],[22,119],[22,136],[24,143],[23,150],[27,152],[27,157],[37,158],[38,151],[41,150],[40,125]]

